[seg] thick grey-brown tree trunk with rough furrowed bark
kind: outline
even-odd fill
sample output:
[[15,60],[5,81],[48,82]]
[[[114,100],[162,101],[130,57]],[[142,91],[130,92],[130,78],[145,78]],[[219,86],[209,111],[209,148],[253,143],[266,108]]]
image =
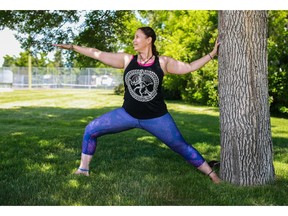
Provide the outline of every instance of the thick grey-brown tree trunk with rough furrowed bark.
[[219,12],[220,177],[274,181],[268,102],[267,11]]

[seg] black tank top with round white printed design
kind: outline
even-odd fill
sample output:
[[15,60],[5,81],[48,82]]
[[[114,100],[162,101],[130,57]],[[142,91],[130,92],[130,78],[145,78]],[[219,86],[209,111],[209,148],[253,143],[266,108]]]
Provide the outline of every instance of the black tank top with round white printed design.
[[123,108],[137,119],[160,117],[167,113],[162,94],[163,70],[156,56],[151,65],[140,65],[134,56],[124,71]]

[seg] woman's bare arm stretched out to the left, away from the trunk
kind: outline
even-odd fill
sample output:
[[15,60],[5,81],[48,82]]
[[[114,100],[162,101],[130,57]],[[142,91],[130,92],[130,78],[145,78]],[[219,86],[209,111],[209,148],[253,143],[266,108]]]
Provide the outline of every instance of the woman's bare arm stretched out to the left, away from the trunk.
[[62,49],[73,50],[90,58],[101,61],[108,66],[121,69],[127,67],[132,57],[132,55],[127,53],[103,52],[96,48],[82,47],[72,44],[54,44],[54,46]]

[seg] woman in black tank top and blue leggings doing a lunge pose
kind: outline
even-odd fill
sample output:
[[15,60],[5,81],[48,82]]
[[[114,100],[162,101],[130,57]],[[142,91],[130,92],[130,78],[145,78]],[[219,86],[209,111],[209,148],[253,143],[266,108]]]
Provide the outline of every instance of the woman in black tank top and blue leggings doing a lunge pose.
[[75,174],[89,176],[89,164],[96,150],[97,137],[140,128],[150,132],[179,153],[190,164],[208,175],[214,183],[219,183],[221,180],[201,154],[182,137],[167,111],[161,92],[165,74],[180,75],[198,70],[217,54],[219,43],[215,43],[211,53],[188,64],[167,56],[159,56],[155,40],[156,34],[152,28],[137,29],[133,39],[134,50],[138,52],[135,56],[127,53],[103,52],[72,44],[55,45],[94,58],[111,67],[124,69],[123,106],[88,124],[83,136],[81,163]]

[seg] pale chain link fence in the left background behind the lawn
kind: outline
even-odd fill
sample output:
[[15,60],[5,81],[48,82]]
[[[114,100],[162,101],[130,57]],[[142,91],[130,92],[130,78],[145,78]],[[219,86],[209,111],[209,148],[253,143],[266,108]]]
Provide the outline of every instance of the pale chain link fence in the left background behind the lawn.
[[[114,68],[32,68],[32,88],[114,88],[123,83]],[[28,88],[28,67],[0,68],[1,88]]]

